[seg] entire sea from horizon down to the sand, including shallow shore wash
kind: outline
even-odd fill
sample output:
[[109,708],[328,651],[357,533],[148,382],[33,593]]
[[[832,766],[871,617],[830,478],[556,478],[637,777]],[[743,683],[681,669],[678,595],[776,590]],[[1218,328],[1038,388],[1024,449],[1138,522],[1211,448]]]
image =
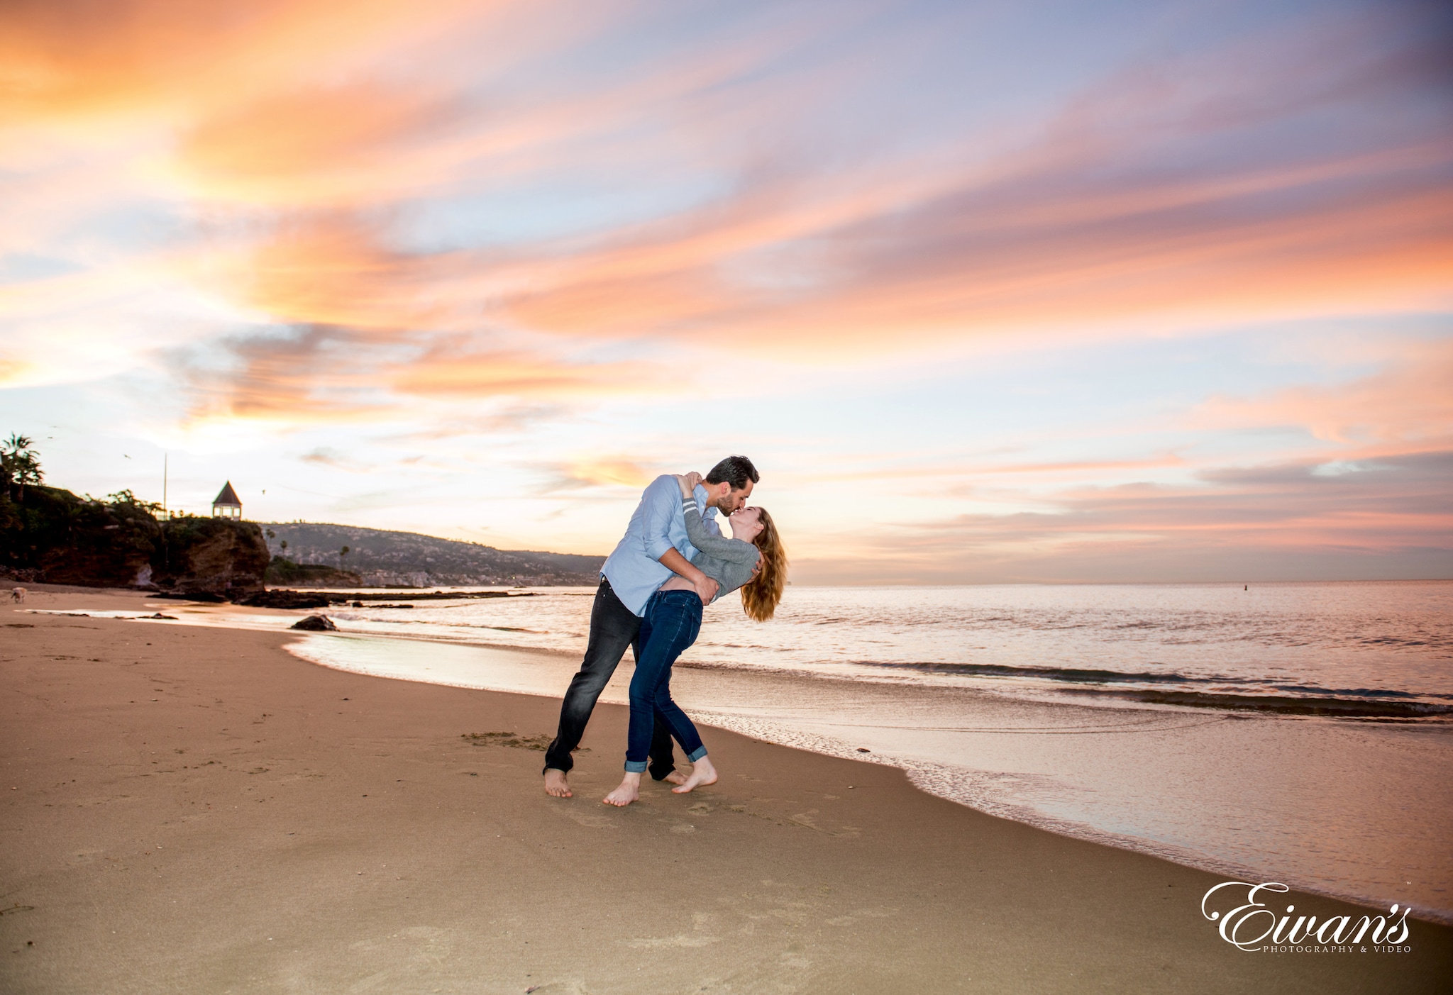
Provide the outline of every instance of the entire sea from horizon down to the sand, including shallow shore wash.
[[[334,609],[292,651],[559,696],[593,591],[520,594]],[[1453,921],[1453,582],[790,587],[764,625],[709,607],[673,690],[991,815]]]

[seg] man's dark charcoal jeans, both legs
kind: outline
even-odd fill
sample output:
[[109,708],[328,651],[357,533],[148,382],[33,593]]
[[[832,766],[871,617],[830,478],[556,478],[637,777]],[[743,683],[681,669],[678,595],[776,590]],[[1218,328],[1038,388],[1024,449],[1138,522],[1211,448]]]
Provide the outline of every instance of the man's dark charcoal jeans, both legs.
[[[590,606],[590,642],[586,643],[586,659],[570,680],[565,700],[559,706],[559,731],[555,742],[545,751],[545,770],[568,771],[575,765],[570,751],[580,745],[586,735],[586,723],[596,707],[596,699],[606,690],[610,675],[626,654],[626,646],[641,659],[641,619],[628,609],[610,590],[610,581],[600,578],[594,604]],[[671,755],[670,726],[660,718],[651,734],[651,777],[661,780],[676,770]]]

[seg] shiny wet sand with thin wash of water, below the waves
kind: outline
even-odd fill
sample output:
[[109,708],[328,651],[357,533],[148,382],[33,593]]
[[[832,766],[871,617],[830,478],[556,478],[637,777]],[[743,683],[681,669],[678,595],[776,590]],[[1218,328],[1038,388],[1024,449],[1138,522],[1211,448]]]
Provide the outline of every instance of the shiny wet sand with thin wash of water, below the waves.
[[[291,649],[355,673],[542,696],[558,696],[578,662],[350,635],[312,635]],[[602,700],[625,703],[629,675],[626,661]],[[1453,812],[1444,725],[1075,706],[729,668],[683,668],[673,690],[706,725],[894,764],[926,790],[992,815],[1453,919],[1443,819],[1430,818]],[[623,744],[587,744],[599,757],[590,763],[615,767],[623,754]],[[1409,867],[1422,880],[1409,883]]]

